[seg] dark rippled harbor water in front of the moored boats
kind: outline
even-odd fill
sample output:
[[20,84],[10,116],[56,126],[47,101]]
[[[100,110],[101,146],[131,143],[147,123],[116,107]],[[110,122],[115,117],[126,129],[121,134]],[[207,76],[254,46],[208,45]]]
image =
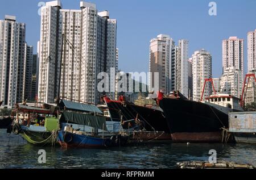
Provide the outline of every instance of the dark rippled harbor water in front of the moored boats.
[[[46,164],[39,164],[38,151],[46,151]],[[181,161],[207,161],[209,150],[217,160],[256,166],[256,145],[251,144],[151,144],[110,149],[40,147],[0,129],[0,168],[177,168]]]

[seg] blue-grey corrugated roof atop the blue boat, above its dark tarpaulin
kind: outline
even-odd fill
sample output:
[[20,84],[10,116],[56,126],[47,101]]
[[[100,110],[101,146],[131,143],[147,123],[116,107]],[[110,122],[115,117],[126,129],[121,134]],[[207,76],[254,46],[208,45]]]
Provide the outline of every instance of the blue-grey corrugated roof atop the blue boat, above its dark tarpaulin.
[[103,112],[98,108],[97,106],[94,106],[92,104],[82,104],[82,103],[76,103],[71,102],[67,100],[61,100],[60,104],[63,103],[63,105],[69,109],[69,110],[77,110],[77,111],[84,111],[84,112],[97,112],[100,114],[103,114]]

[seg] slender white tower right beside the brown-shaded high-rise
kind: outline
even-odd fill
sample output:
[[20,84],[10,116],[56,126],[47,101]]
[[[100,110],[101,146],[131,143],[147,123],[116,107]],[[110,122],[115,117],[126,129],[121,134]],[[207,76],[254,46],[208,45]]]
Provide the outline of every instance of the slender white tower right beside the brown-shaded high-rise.
[[175,90],[189,97],[188,88],[188,40],[181,39],[175,47]]

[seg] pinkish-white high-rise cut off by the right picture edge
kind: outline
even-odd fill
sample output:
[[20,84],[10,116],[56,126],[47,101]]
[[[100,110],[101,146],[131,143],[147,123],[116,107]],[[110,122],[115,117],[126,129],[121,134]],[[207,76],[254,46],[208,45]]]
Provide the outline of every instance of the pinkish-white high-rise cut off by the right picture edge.
[[256,30],[247,33],[248,72],[256,69]]

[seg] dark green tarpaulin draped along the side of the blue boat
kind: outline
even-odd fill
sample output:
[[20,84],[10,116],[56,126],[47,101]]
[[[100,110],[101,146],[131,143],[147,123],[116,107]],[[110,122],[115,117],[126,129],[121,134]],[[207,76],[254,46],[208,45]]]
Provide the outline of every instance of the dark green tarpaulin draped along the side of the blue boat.
[[104,116],[92,116],[64,111],[61,114],[60,121],[65,123],[88,125],[97,129],[107,129],[106,118]]

